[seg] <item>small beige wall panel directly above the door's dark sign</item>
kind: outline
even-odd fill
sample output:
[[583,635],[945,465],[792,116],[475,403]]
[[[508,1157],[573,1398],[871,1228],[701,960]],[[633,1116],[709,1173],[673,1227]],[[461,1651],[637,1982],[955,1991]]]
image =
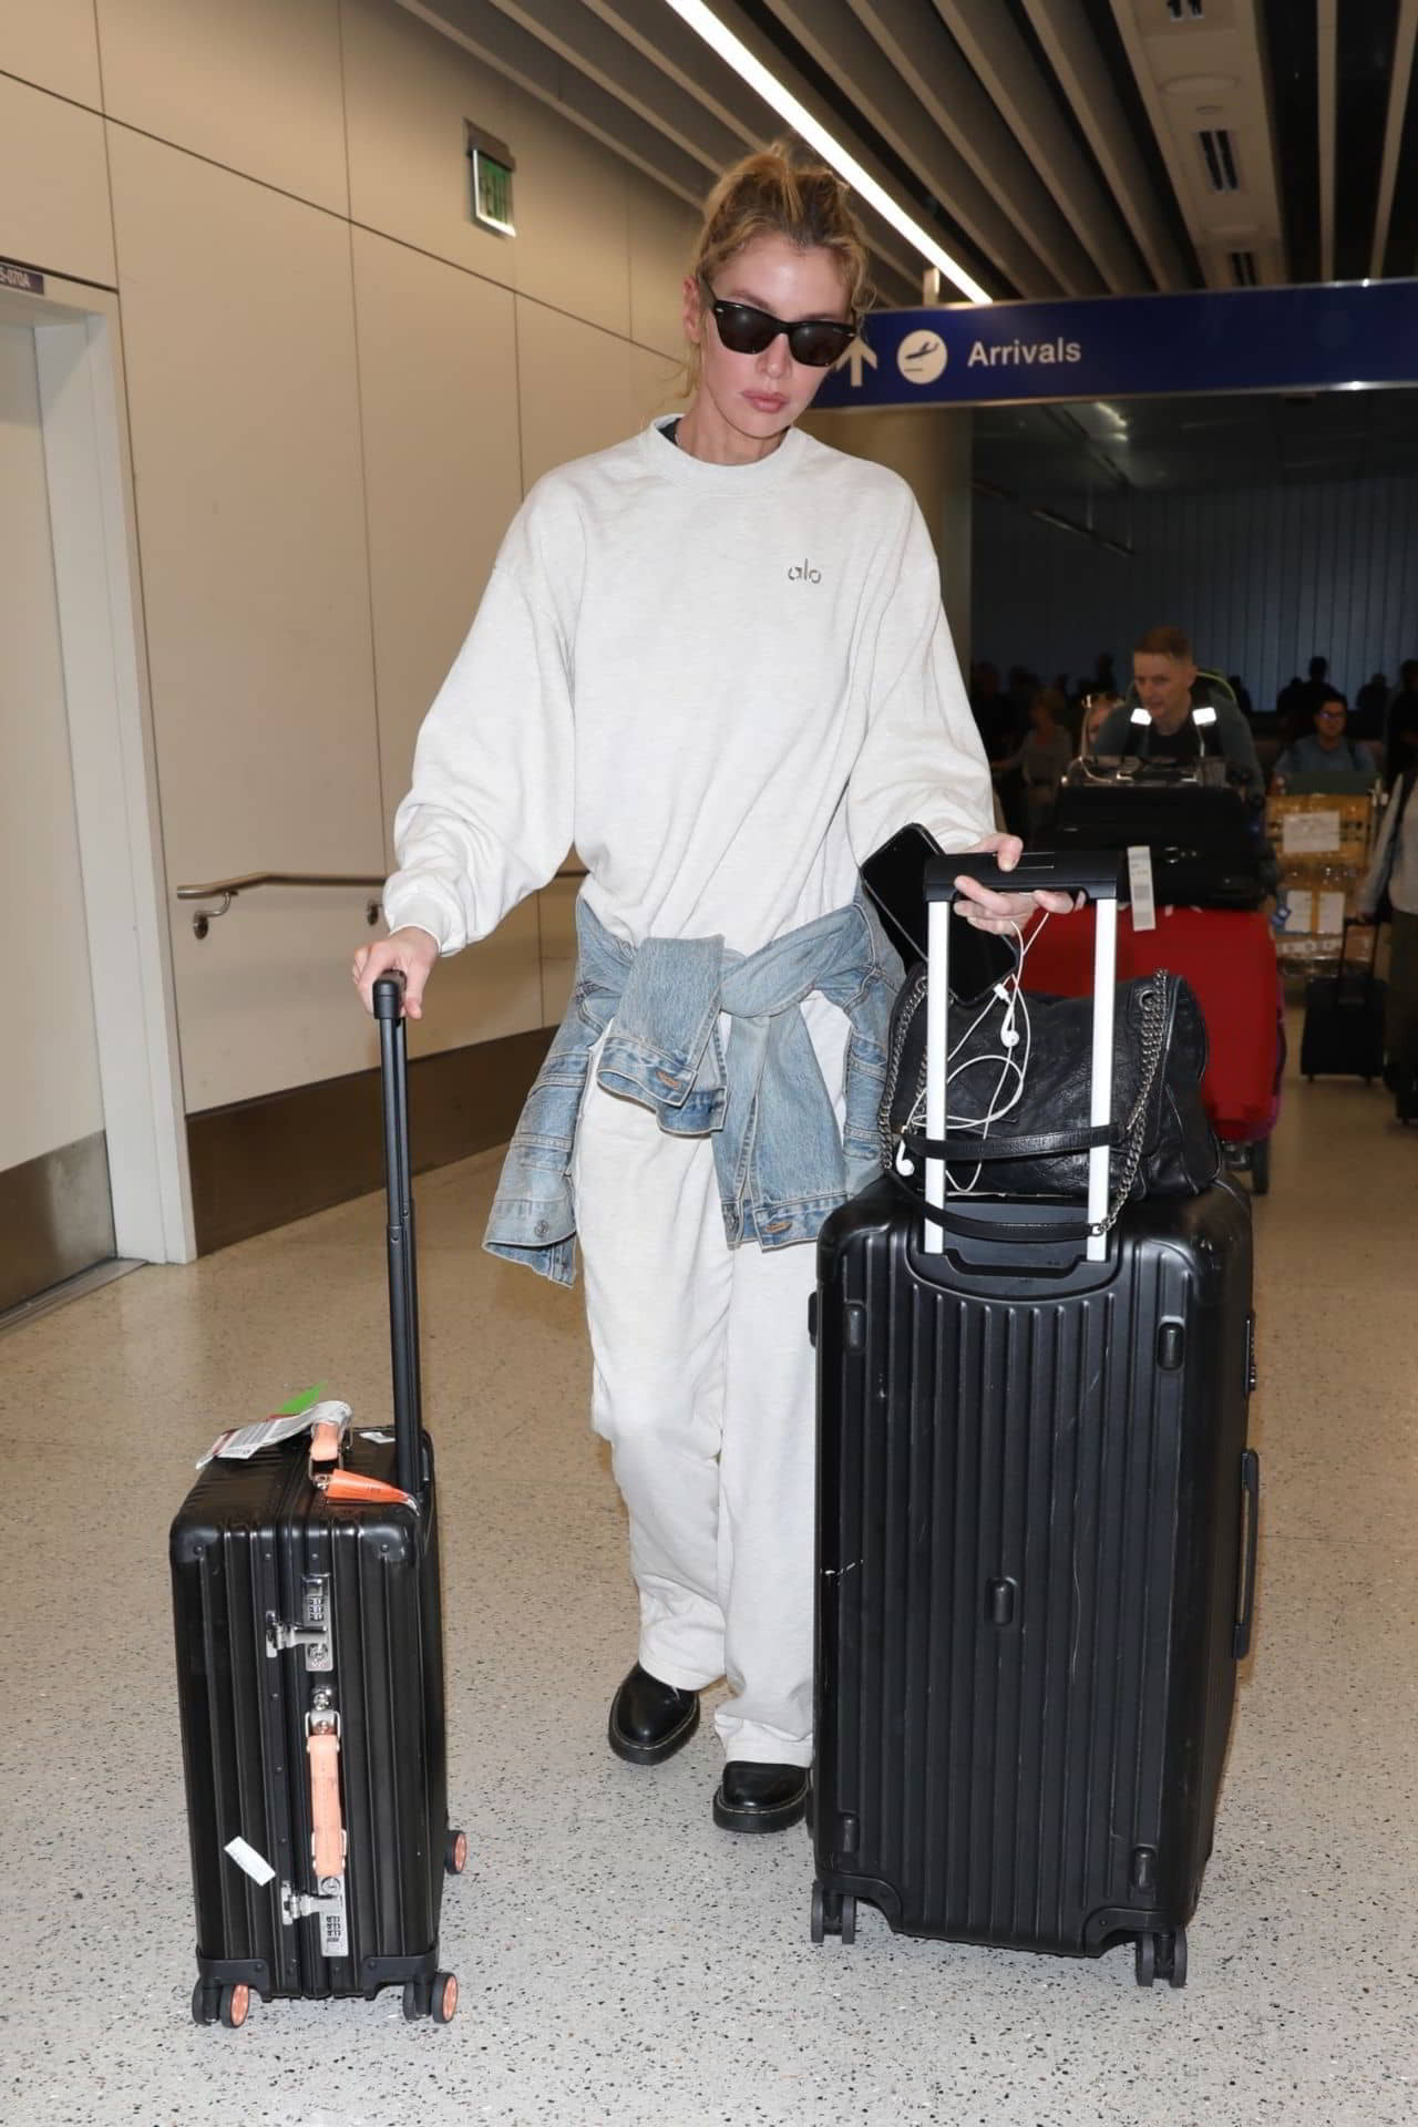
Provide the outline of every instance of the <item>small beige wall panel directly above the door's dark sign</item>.
[[0,257],[113,287],[104,121],[0,74]]

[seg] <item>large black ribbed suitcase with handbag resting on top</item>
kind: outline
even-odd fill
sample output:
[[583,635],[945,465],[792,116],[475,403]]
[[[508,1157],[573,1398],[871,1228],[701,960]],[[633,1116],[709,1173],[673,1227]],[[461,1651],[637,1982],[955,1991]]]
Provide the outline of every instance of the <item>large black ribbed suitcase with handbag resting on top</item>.
[[[959,870],[984,876],[931,866],[933,917]],[[1059,859],[1035,883],[1088,870]],[[1116,872],[1110,893],[1112,1004]],[[1108,1123],[1097,1068],[1093,1085]],[[938,1066],[931,1087],[940,1140]],[[1074,1204],[946,1202],[938,1161],[929,1212],[882,1176],[823,1227],[818,1942],[850,1942],[870,1899],[955,1942],[1095,1957],[1133,1938],[1142,1984],[1184,1984],[1250,1642],[1250,1206],[1220,1180],[1101,1234],[1108,1157],[1086,1238]]]

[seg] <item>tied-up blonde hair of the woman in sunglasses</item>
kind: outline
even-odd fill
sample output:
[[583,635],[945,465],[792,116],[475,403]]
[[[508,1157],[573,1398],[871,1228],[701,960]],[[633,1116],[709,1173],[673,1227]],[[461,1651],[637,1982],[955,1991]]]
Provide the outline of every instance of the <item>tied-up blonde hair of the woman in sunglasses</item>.
[[[857,319],[872,304],[867,240],[848,206],[848,187],[823,162],[797,160],[787,140],[774,140],[757,155],[744,155],[725,170],[704,202],[704,225],[689,270],[706,283],[755,236],[787,236],[799,251],[831,251],[842,272],[842,289]],[[699,349],[685,355],[685,398],[699,387]]]

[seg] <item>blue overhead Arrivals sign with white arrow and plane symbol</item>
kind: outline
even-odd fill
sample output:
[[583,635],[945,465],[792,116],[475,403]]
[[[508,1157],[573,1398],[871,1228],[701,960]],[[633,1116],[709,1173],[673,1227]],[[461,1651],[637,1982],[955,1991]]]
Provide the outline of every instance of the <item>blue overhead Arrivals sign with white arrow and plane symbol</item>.
[[818,406],[1418,383],[1418,281],[878,311]]

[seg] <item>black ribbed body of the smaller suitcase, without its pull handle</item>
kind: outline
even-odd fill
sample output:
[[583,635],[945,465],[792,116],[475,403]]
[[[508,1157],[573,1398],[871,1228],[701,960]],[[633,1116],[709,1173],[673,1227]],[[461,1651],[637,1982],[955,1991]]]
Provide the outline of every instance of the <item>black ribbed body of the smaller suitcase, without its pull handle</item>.
[[[374,1995],[432,1980],[449,1836],[438,1510],[332,1504],[308,1440],[206,1466],[172,1523],[172,1608],[202,1980],[272,1995]],[[357,1434],[349,1470],[398,1483],[393,1444]],[[304,1576],[330,1576],[336,1670],[268,1653],[298,1623]],[[319,1914],[285,1923],[283,1885],[317,1889],[304,1721],[332,1682],[340,1710],[349,1955],[321,1950]],[[225,1853],[247,1840],[276,1872],[259,1887]]]

